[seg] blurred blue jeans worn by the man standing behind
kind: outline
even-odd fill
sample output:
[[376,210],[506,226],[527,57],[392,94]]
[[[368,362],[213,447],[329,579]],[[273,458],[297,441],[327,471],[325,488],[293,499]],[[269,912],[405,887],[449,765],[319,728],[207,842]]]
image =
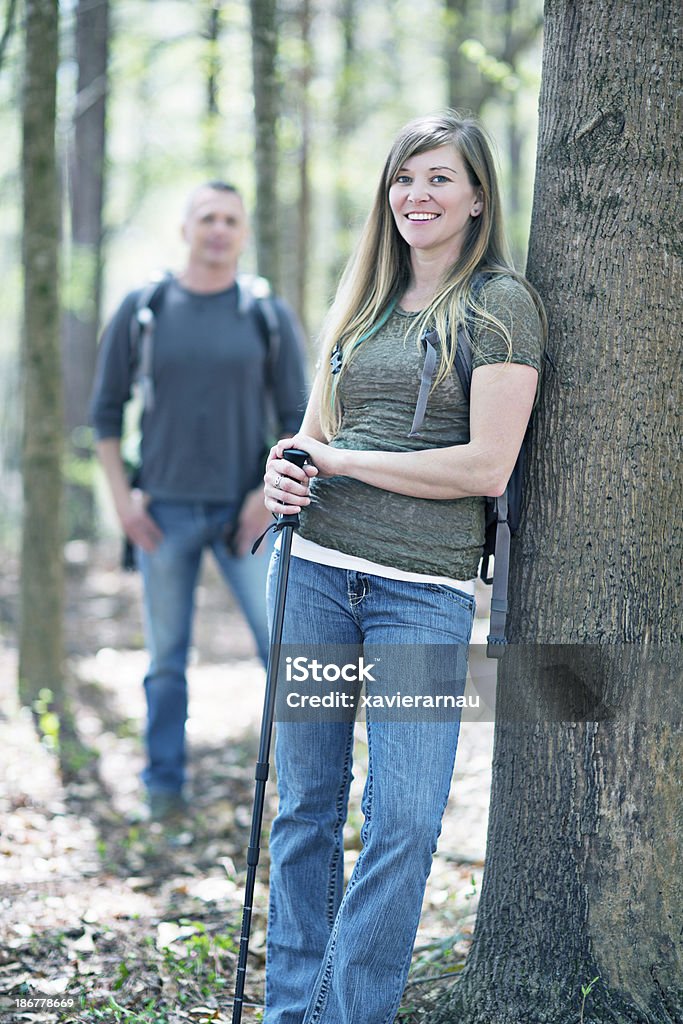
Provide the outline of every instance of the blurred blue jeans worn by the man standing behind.
[[234,505],[153,502],[150,514],[164,539],[152,553],[138,549],[144,586],[144,629],[150,668],[144,678],[147,702],[147,764],[142,780],[151,793],[178,794],[184,781],[187,682],[195,588],[202,554],[210,548],[252,629],[265,663],[268,628],[265,583],[268,559],[261,554],[230,555],[223,535],[234,521]]

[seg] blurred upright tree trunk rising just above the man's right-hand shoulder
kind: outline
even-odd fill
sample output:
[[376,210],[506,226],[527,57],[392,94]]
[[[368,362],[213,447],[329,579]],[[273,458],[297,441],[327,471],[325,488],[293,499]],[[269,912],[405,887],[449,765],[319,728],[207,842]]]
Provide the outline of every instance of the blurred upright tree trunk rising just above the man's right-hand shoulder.
[[275,0],[251,0],[258,272],[280,288],[278,260],[278,19]]

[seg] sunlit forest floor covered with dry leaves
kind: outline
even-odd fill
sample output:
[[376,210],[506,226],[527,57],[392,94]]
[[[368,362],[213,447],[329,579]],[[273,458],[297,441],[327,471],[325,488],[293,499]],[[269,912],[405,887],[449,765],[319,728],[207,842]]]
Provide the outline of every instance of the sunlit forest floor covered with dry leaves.
[[[189,670],[190,810],[170,827],[136,823],[142,767],[140,581],[113,547],[69,553],[71,693],[87,754],[65,778],[49,744],[49,694],[16,698],[17,566],[0,572],[0,1022],[227,1022],[242,920],[264,673],[207,562]],[[485,620],[476,630],[485,634]],[[480,649],[480,648],[479,648]],[[474,656],[477,656],[475,653]],[[463,722],[455,782],[397,1021],[418,1024],[462,969],[483,867],[493,724]],[[356,726],[345,829],[359,848],[367,745]],[[246,1024],[261,1019],[267,905],[264,839],[250,942]]]

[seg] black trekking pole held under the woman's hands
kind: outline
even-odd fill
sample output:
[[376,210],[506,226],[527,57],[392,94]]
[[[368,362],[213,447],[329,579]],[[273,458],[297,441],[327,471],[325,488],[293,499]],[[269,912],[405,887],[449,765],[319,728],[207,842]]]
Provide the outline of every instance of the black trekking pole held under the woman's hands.
[[[283,458],[303,468],[308,458],[307,452],[300,449],[288,449]],[[274,524],[274,529],[282,531],[280,549],[280,565],[275,584],[275,598],[270,633],[270,648],[268,651],[268,667],[265,673],[265,694],[263,697],[263,715],[261,718],[261,737],[256,762],[256,785],[254,788],[254,808],[252,811],[251,835],[247,850],[247,882],[245,885],[245,902],[242,911],[242,935],[240,937],[240,955],[238,973],[234,982],[234,998],[232,1000],[232,1024],[242,1021],[244,1006],[245,981],[247,978],[247,953],[249,952],[249,934],[251,932],[252,901],[256,883],[256,866],[260,854],[261,824],[263,822],[263,803],[265,800],[265,783],[268,778],[270,763],[270,737],[275,709],[275,690],[278,687],[278,670],[280,668],[280,647],[283,639],[283,623],[285,621],[285,597],[287,594],[287,579],[290,571],[290,552],[292,550],[292,535],[299,525],[299,516],[281,515]],[[257,542],[258,543],[258,542]]]

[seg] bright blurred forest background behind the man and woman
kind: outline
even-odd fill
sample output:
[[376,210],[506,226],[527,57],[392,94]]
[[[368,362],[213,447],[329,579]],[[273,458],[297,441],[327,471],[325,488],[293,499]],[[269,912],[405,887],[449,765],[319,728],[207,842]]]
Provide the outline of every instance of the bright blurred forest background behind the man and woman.
[[[22,88],[28,4],[0,3],[0,547],[19,550]],[[313,358],[386,151],[408,119],[479,114],[523,269],[542,0],[62,0],[57,157],[66,539],[114,528],[86,425],[101,325],[182,258],[187,191],[211,177],[252,216],[244,270],[299,313]],[[101,489],[99,487],[99,489]]]

